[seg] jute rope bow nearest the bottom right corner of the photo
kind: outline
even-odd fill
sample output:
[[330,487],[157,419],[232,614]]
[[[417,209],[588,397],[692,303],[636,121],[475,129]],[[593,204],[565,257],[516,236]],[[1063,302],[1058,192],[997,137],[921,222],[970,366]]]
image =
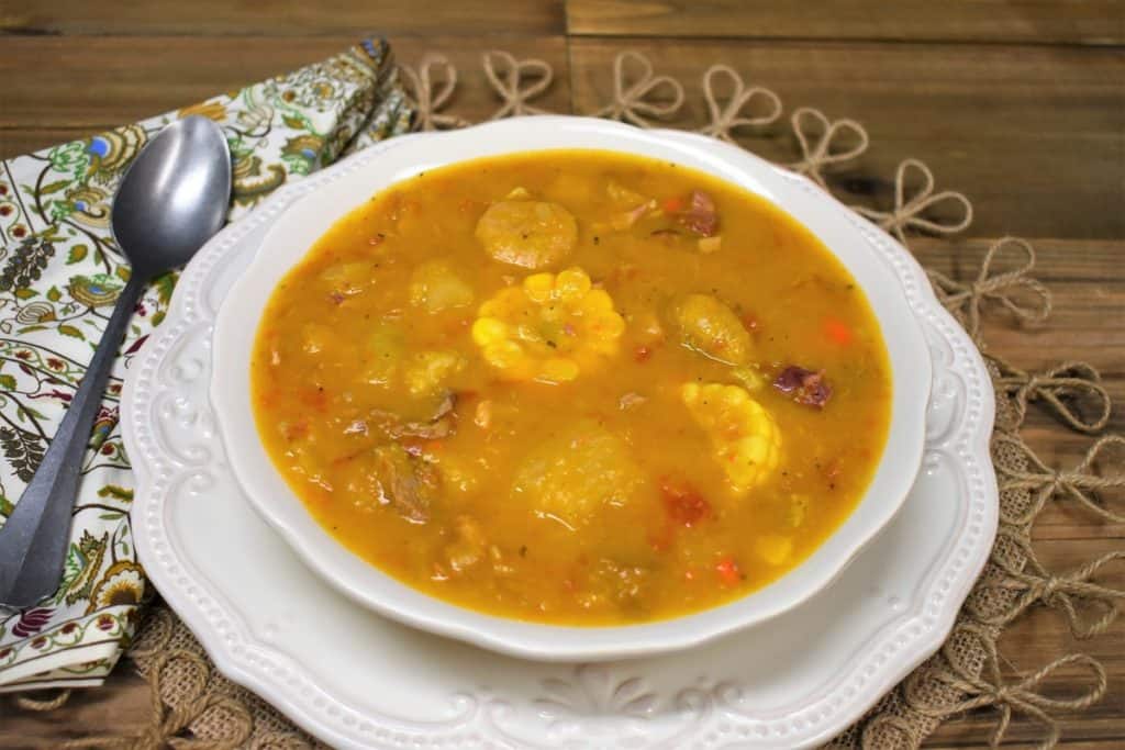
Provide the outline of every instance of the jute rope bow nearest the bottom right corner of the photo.
[[[1000,672],[1000,656],[997,653],[996,640],[989,635],[980,625],[962,625],[957,629],[961,634],[973,638],[980,643],[981,650],[986,654],[984,668],[980,676],[973,675],[964,667],[955,654],[948,653],[946,661],[947,669],[924,669],[918,670],[908,678],[906,684],[906,697],[911,707],[924,715],[945,719],[951,714],[993,706],[1000,712],[1000,719],[990,737],[990,744],[997,747],[1008,731],[1011,723],[1012,713],[1020,713],[1043,725],[1047,735],[1037,748],[1047,750],[1059,742],[1059,725],[1047,713],[1048,711],[1081,711],[1094,705],[1101,699],[1106,693],[1106,671],[1097,661],[1084,653],[1072,653],[1061,659],[1055,659],[1051,663],[1032,672],[1027,677],[1014,683],[1006,683]],[[943,653],[951,649],[954,639],[946,641]],[[1070,699],[1048,698],[1037,692],[1036,688],[1051,676],[1052,672],[1066,667],[1086,668],[1092,677],[1092,685],[1080,697]],[[936,680],[939,684],[969,696],[953,706],[942,705],[933,707],[927,705],[921,698],[919,686],[925,680]]]

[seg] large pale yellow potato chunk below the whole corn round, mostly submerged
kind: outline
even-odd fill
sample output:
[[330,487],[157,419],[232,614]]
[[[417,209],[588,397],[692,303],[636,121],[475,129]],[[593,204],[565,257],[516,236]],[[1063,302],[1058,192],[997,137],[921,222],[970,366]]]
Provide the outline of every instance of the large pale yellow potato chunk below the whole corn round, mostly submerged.
[[512,495],[574,531],[605,506],[629,503],[642,481],[626,444],[596,422],[582,421],[532,449],[516,469]]

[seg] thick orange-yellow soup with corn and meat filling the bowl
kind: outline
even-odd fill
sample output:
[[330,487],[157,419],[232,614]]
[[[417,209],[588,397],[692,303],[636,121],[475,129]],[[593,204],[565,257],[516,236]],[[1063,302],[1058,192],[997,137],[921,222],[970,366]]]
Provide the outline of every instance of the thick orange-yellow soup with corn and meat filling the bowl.
[[775,580],[855,508],[891,378],[848,272],[676,164],[543,151],[336,223],[251,358],[278,471],[349,550],[479,612],[618,625]]

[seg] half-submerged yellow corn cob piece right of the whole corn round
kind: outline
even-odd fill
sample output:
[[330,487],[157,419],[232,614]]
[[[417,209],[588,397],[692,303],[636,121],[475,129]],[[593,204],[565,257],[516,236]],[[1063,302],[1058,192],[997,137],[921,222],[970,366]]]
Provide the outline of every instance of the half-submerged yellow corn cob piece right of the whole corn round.
[[781,432],[749,394],[738,386],[694,382],[680,392],[735,493],[747,493],[774,472],[781,461]]

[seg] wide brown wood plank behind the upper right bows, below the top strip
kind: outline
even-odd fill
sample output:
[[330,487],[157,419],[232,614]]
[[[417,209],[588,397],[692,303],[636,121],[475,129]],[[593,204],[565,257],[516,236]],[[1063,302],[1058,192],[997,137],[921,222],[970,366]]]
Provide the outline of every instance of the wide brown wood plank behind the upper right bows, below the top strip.
[[[974,201],[975,235],[1125,236],[1123,49],[579,38],[570,43],[576,111],[610,100],[623,46],[684,83],[674,126],[705,121],[700,79],[719,62],[773,89],[786,111],[816,105],[862,121],[873,146],[844,173],[855,177],[850,202],[889,205],[896,166],[916,156],[938,190]],[[745,144],[793,159],[788,123],[766,135]]]

